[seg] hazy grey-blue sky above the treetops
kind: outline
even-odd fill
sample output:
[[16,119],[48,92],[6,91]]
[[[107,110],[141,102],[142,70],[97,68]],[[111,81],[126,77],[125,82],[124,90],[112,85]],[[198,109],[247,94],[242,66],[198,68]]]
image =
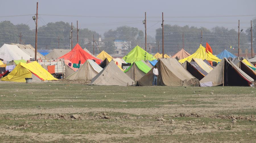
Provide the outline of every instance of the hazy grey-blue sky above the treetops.
[[[35,14],[36,2],[34,0],[1,0],[0,21],[9,20],[14,24],[24,23],[34,29],[35,23],[30,15],[3,16]],[[144,30],[144,25],[142,24],[144,12],[147,12],[148,34],[153,37],[155,29],[161,25],[162,12],[164,12],[164,24],[194,25],[207,28],[224,26],[230,29],[237,29],[237,23],[240,20],[240,27],[245,29],[250,27],[250,20],[256,17],[255,0],[39,0],[38,2],[38,13],[42,14],[39,15],[39,26],[56,21],[76,24],[76,20],[78,20],[79,28],[95,30],[101,35],[108,29],[115,29],[121,25],[133,26]],[[47,16],[44,14],[73,16]],[[74,15],[79,15],[80,17]],[[195,17],[226,15],[236,15],[238,17]],[[181,18],[173,18],[174,16],[181,16]]]

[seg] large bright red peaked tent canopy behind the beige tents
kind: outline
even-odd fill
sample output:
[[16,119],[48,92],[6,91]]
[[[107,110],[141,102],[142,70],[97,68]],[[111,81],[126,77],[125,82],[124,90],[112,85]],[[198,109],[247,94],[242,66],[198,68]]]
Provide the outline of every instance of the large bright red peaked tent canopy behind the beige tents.
[[96,57],[93,57],[89,53],[85,52],[78,43],[70,52],[59,58],[64,58],[66,60],[68,59],[71,61],[71,63],[79,63],[80,60],[81,64],[83,64],[87,59],[94,59],[97,64],[102,62],[101,59],[97,59]]

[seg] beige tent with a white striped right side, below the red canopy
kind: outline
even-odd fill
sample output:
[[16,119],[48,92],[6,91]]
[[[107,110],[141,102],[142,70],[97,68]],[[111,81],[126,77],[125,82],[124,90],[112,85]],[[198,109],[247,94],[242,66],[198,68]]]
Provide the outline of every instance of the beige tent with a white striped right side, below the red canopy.
[[88,59],[76,72],[65,78],[65,80],[89,82],[96,76],[102,68],[93,60]]

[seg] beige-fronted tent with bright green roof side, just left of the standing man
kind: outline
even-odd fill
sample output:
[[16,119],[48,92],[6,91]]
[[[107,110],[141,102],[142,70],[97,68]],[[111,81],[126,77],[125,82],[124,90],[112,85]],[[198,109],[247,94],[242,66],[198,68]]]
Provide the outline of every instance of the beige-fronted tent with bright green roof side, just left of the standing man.
[[138,81],[141,79],[148,71],[150,71],[150,67],[145,63],[145,61],[135,61],[131,64],[131,66],[124,71],[126,75],[128,75],[134,81]]

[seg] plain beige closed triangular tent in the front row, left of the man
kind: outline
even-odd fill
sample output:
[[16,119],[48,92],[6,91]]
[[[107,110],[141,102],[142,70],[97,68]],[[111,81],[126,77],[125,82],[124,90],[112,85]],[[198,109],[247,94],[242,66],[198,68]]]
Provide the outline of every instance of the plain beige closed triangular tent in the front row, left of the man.
[[113,60],[91,81],[91,85],[103,86],[131,86],[134,83],[129,76],[117,67]]

